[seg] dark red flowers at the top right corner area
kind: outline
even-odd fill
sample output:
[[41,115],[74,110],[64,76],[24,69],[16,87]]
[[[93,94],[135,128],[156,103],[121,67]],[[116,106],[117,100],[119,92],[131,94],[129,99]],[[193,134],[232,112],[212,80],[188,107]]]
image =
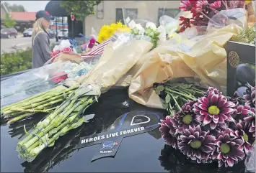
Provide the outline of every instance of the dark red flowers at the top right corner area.
[[[180,32],[184,32],[185,29],[191,27],[191,25],[197,26],[198,32],[201,32],[203,27],[208,26],[208,22],[211,21],[211,18],[218,14],[219,11],[237,8],[244,8],[244,1],[181,1],[180,10],[190,11],[192,13],[192,17],[180,17],[180,25],[182,26],[180,28]],[[221,22],[226,22],[224,17],[220,20],[223,20]]]

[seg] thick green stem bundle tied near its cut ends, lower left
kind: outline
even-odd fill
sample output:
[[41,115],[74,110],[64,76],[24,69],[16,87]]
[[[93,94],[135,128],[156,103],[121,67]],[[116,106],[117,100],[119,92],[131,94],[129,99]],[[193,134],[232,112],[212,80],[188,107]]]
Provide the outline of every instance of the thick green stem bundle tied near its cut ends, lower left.
[[[77,90],[79,91],[79,90]],[[17,151],[22,159],[32,162],[33,159],[47,146],[53,146],[54,142],[71,129],[81,126],[85,122],[81,113],[97,99],[94,95],[69,95],[53,113],[37,123],[32,133],[25,132],[27,137],[17,144]]]

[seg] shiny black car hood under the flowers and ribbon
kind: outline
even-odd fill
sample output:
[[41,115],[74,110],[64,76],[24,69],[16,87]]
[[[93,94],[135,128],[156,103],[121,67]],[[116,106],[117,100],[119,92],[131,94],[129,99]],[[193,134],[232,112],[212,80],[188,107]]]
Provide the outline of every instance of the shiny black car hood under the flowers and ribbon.
[[[244,172],[243,162],[231,169],[218,169],[217,164],[186,161],[180,152],[165,145],[158,128],[124,138],[114,158],[91,162],[100,144],[76,149],[80,137],[107,131],[119,116],[136,110],[165,113],[138,105],[128,98],[127,89],[110,90],[100,97],[99,103],[87,110],[87,114],[95,114],[89,123],[61,136],[55,146],[45,149],[31,163],[19,159],[16,151],[19,136],[23,134],[23,123],[1,126],[1,172]],[[32,128],[43,116],[27,121],[26,128]]]

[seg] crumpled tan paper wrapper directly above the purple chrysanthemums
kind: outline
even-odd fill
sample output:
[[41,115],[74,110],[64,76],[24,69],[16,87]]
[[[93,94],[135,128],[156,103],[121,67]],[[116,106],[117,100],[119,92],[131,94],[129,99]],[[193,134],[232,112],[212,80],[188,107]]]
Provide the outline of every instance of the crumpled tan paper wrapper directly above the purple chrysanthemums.
[[165,45],[159,45],[141,57],[144,63],[131,80],[129,97],[144,106],[162,108],[153,84],[187,77],[200,79],[202,85],[213,86],[225,93],[227,74],[224,45],[240,32],[242,27],[231,24],[204,35],[197,42],[174,34]]

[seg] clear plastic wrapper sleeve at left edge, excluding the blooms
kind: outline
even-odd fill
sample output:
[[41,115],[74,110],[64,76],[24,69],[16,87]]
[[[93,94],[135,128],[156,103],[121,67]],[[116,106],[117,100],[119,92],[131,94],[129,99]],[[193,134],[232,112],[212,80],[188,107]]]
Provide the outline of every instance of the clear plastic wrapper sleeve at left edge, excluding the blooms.
[[55,88],[52,80],[65,75],[56,75],[61,69],[65,69],[65,63],[56,62],[1,81],[1,107]]

